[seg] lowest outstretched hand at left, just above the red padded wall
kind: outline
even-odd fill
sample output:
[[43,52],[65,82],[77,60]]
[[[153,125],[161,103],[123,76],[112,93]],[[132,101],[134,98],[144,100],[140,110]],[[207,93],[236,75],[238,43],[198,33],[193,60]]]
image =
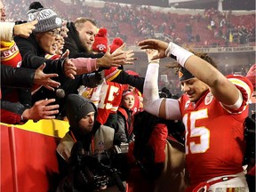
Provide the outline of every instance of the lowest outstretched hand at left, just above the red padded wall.
[[26,109],[22,116],[24,120],[40,120],[40,119],[54,119],[55,115],[59,113],[59,105],[50,105],[55,102],[55,99],[51,100],[38,100],[32,108]]

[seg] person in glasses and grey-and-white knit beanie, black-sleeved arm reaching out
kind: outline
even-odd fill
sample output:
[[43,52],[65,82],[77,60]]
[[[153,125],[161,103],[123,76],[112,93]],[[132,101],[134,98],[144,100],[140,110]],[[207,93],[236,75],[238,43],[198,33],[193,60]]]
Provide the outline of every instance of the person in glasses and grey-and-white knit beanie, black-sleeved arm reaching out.
[[55,54],[62,20],[51,9],[38,8],[28,11],[28,22],[38,20],[36,28],[28,38],[15,36],[14,40],[20,49],[22,66],[38,68],[46,63],[45,73],[58,73],[59,76],[75,78],[76,67],[70,60],[46,60],[45,53]]

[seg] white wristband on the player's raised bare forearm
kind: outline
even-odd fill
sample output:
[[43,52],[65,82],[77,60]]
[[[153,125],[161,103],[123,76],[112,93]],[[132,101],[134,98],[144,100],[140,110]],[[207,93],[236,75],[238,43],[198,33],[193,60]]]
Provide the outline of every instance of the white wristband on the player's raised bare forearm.
[[188,52],[188,50],[180,47],[178,44],[173,44],[170,42],[167,49],[165,50],[165,55],[167,57],[172,57],[172,55],[174,55],[180,65],[185,68],[184,66],[186,60],[188,60],[188,58],[194,54],[192,52]]

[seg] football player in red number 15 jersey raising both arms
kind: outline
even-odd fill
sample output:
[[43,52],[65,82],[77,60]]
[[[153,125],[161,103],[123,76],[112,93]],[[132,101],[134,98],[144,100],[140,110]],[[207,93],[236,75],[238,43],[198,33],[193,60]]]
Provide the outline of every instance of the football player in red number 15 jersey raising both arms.
[[[187,191],[249,191],[242,163],[244,119],[252,83],[244,76],[223,76],[207,54],[177,44],[148,39],[139,43],[148,53],[143,89],[144,109],[186,127]],[[159,59],[172,57],[180,66],[180,100],[159,99]]]

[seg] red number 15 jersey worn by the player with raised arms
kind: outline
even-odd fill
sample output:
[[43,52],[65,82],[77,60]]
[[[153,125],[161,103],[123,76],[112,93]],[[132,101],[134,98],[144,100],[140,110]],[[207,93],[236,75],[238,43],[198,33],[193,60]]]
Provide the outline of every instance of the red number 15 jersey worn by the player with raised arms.
[[244,76],[228,78],[243,94],[241,108],[232,111],[223,107],[209,91],[196,103],[190,102],[185,94],[180,98],[191,185],[243,171],[244,119],[248,116],[252,84]]

